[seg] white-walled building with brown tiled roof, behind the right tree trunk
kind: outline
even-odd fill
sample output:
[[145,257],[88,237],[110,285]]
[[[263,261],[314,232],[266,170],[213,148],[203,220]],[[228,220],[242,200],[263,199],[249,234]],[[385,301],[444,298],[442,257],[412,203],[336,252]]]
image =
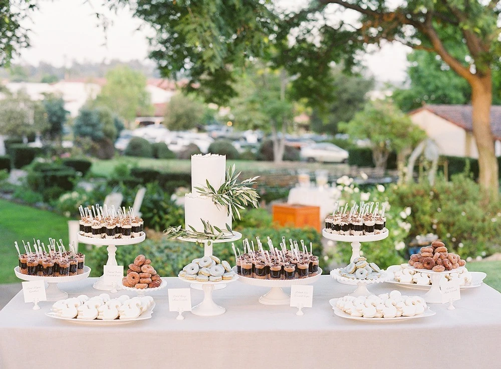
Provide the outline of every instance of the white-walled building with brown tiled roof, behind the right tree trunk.
[[[424,105],[409,113],[438,146],[441,155],[478,158],[472,131],[471,105]],[[501,106],[490,110],[496,156],[501,156]]]

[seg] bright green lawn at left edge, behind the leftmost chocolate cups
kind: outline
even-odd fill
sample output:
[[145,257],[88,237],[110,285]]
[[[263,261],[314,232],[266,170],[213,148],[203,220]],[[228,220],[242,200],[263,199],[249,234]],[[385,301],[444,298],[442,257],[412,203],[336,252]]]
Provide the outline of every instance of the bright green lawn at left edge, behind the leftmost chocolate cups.
[[61,238],[68,245],[68,220],[65,217],[2,199],[0,213],[0,283],[20,282],[13,271],[18,265],[14,241],[22,248],[22,240],[33,244],[35,237],[47,244],[52,237]]

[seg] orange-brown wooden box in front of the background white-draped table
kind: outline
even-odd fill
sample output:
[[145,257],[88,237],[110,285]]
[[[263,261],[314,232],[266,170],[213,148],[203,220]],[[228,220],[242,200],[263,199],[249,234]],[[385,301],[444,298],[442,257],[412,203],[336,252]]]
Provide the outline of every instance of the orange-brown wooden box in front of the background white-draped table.
[[313,227],[319,231],[322,230],[318,206],[275,204],[273,205],[273,222],[281,226]]

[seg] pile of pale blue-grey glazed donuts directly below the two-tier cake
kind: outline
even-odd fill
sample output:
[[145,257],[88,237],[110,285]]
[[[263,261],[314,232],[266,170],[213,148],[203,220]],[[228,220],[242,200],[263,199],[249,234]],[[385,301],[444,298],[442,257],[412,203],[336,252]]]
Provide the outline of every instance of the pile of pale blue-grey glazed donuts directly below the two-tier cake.
[[217,256],[211,255],[193,259],[178,276],[188,281],[219,282],[233,279],[234,275],[226,260],[221,261]]

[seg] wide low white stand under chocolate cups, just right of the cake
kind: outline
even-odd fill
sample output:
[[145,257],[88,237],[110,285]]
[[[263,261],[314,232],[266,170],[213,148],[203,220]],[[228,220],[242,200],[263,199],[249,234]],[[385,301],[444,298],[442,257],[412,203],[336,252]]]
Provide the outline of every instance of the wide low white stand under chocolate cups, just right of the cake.
[[[233,267],[236,273],[236,267]],[[318,268],[318,273],[308,278],[297,279],[259,279],[239,276],[238,280],[250,286],[271,287],[270,291],[261,296],[258,301],[263,305],[289,305],[291,296],[284,292],[282,288],[291,287],[293,284],[307,285],[315,283],[322,275],[322,268]]]

